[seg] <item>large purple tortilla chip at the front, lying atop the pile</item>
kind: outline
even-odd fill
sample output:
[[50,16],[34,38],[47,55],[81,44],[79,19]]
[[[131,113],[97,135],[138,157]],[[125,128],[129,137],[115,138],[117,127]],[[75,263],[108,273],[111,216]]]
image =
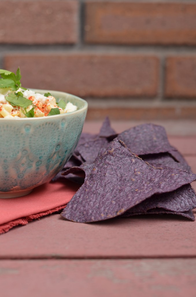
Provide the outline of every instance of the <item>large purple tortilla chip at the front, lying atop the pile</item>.
[[174,191],[195,179],[193,173],[149,165],[115,138],[61,215],[74,222],[117,217],[154,194]]

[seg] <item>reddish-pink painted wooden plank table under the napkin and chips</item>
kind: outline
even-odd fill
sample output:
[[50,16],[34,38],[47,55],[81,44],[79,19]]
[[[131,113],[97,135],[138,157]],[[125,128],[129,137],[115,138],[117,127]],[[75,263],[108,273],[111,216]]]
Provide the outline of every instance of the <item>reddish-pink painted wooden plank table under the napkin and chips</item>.
[[[84,127],[92,129],[99,124]],[[196,173],[196,136],[169,140]],[[186,295],[196,296],[196,222],[148,215],[79,224],[53,214],[0,236],[1,297]]]

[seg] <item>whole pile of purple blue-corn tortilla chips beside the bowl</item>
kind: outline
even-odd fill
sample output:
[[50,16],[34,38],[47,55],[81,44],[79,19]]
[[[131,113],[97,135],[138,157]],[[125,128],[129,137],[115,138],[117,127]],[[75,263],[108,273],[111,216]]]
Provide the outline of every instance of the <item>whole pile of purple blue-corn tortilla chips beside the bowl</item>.
[[99,135],[83,133],[65,168],[53,179],[82,183],[62,211],[74,222],[136,214],[178,214],[194,221],[196,179],[163,127],[143,124],[121,134],[105,119]]

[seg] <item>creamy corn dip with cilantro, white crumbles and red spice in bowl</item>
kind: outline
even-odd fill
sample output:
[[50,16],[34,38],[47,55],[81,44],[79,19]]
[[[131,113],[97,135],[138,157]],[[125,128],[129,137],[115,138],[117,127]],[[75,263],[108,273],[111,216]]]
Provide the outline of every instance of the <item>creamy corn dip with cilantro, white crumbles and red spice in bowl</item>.
[[0,118],[53,116],[77,110],[63,99],[57,103],[50,92],[44,95],[21,86],[20,68],[14,72],[0,69]]

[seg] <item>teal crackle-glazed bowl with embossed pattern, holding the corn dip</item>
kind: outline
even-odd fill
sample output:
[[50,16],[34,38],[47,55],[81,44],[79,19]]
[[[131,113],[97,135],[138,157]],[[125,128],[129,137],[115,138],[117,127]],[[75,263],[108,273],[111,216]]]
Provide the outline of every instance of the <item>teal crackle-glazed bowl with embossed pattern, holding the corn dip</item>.
[[[49,90],[34,90],[44,94]],[[53,178],[80,138],[88,104],[74,95],[49,91],[78,110],[40,118],[0,119],[0,198],[29,194]]]

